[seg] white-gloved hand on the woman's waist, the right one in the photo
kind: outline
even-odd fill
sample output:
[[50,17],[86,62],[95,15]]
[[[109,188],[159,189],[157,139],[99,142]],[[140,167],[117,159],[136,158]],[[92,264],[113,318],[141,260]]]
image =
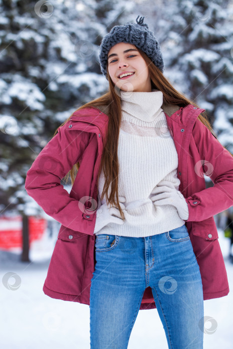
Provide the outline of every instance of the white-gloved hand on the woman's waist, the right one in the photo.
[[159,184],[157,184],[157,186],[153,189],[153,196],[151,197],[151,200],[157,206],[175,206],[179,216],[183,220],[187,220],[189,217],[189,208],[185,197],[175,188],[174,184],[168,180],[161,180]]

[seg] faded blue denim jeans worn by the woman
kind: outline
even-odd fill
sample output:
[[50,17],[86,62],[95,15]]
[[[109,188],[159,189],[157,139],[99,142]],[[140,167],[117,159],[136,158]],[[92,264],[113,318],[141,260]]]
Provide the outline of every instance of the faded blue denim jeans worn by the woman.
[[128,347],[148,286],[168,348],[203,349],[202,279],[185,224],[139,238],[96,235],[95,258],[90,288],[91,349]]

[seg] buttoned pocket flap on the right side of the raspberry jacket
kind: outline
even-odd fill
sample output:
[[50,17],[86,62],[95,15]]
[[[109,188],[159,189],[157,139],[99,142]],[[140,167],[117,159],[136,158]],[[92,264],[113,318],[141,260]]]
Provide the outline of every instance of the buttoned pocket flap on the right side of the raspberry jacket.
[[192,233],[205,240],[215,240],[219,238],[214,217],[202,220],[201,222],[192,222]]

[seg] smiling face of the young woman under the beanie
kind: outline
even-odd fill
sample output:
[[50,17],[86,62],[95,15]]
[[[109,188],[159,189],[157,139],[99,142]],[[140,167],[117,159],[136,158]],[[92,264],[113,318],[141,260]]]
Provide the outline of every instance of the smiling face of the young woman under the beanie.
[[[123,76],[123,73],[132,73]],[[149,69],[135,45],[119,42],[108,52],[108,73],[114,85],[124,91],[151,92]]]

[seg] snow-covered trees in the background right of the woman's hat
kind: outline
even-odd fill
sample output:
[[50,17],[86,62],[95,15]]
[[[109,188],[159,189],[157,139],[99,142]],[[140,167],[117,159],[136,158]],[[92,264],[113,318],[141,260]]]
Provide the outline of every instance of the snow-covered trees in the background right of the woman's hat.
[[206,109],[219,141],[233,153],[232,1],[137,2],[161,43],[164,74]]

